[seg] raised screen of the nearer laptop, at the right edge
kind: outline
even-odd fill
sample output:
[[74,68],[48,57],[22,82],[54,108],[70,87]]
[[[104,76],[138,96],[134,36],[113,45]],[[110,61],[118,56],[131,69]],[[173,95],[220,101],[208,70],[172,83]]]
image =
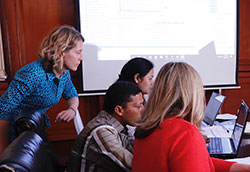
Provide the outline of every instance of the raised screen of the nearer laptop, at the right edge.
[[242,100],[240,109],[238,112],[238,117],[235,123],[234,131],[232,133],[232,140],[233,140],[236,150],[238,150],[242,134],[244,133],[248,114],[249,114],[249,108],[247,104]]

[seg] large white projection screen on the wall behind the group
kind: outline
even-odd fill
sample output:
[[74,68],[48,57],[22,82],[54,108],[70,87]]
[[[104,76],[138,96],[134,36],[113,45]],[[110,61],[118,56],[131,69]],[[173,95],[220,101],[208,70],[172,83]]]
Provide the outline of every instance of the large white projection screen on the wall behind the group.
[[237,86],[237,0],[79,0],[83,93],[104,92],[131,58],[185,61],[205,88]]

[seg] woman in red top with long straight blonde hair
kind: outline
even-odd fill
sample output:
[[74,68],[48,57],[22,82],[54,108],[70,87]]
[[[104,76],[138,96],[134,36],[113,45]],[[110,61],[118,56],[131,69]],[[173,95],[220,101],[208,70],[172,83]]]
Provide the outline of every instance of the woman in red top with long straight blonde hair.
[[188,64],[160,70],[135,132],[134,172],[250,171],[250,166],[211,158],[201,120],[205,108],[199,74]]

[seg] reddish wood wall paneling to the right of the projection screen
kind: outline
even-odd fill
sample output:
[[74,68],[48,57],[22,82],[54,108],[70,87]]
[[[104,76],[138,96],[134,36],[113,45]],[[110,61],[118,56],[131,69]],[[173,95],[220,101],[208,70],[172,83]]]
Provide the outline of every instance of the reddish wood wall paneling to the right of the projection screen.
[[[239,89],[223,90],[227,96],[223,112],[237,113],[242,99],[250,106],[250,0],[240,0],[239,8]],[[250,120],[250,117],[249,117]]]

